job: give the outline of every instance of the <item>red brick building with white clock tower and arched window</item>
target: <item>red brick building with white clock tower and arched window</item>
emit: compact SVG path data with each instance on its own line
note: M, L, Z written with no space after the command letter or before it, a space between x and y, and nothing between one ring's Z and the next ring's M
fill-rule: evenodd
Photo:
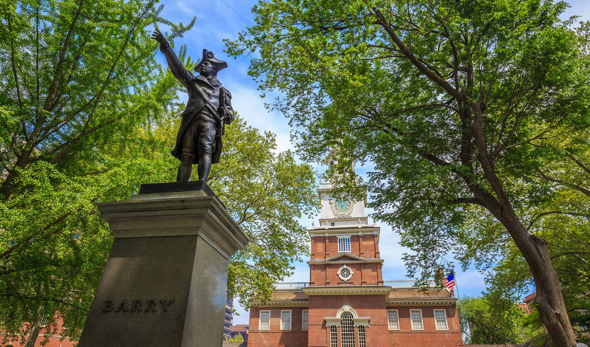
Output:
M270 302L251 302L248 347L463 346L453 292L384 281L366 198L332 197L332 188L320 181L317 189L322 215L309 229L309 282L278 283Z

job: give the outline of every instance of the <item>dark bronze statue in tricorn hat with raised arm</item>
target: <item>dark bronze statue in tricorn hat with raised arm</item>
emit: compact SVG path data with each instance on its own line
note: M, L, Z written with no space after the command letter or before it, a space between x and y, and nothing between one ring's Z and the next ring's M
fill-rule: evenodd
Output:
M181 161L176 182L188 181L192 165L197 163L199 181L207 181L211 164L219 162L224 125L234 120L231 93L221 86L217 73L227 67L225 61L203 50L203 58L195 66L199 76L186 70L162 33L156 29L152 38L159 42L168 67L188 91L188 102L182 113L181 126L172 152Z

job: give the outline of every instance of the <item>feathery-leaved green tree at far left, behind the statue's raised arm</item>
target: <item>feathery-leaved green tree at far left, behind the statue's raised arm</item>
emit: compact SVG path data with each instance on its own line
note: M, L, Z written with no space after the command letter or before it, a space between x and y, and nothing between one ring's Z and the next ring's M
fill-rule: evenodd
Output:
M27 347L44 317L45 342L80 334L112 242L94 202L166 174L139 135L177 88L146 27L181 35L192 23L165 21L154 3L0 1L0 327L29 335Z

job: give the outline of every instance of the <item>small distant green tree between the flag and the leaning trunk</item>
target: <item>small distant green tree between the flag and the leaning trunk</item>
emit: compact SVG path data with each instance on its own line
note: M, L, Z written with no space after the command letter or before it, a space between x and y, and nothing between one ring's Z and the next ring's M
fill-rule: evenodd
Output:
M464 343L519 345L540 332L527 326L525 310L506 298L464 296L457 308Z

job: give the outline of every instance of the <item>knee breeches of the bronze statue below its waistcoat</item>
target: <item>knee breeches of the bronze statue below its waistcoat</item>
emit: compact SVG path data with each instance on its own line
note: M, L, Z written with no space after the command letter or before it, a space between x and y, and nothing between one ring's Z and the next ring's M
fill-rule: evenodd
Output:
M197 160L204 155L211 157L216 132L217 125L215 123L208 122L202 117L192 120L182 136L182 155L195 158L196 154Z

